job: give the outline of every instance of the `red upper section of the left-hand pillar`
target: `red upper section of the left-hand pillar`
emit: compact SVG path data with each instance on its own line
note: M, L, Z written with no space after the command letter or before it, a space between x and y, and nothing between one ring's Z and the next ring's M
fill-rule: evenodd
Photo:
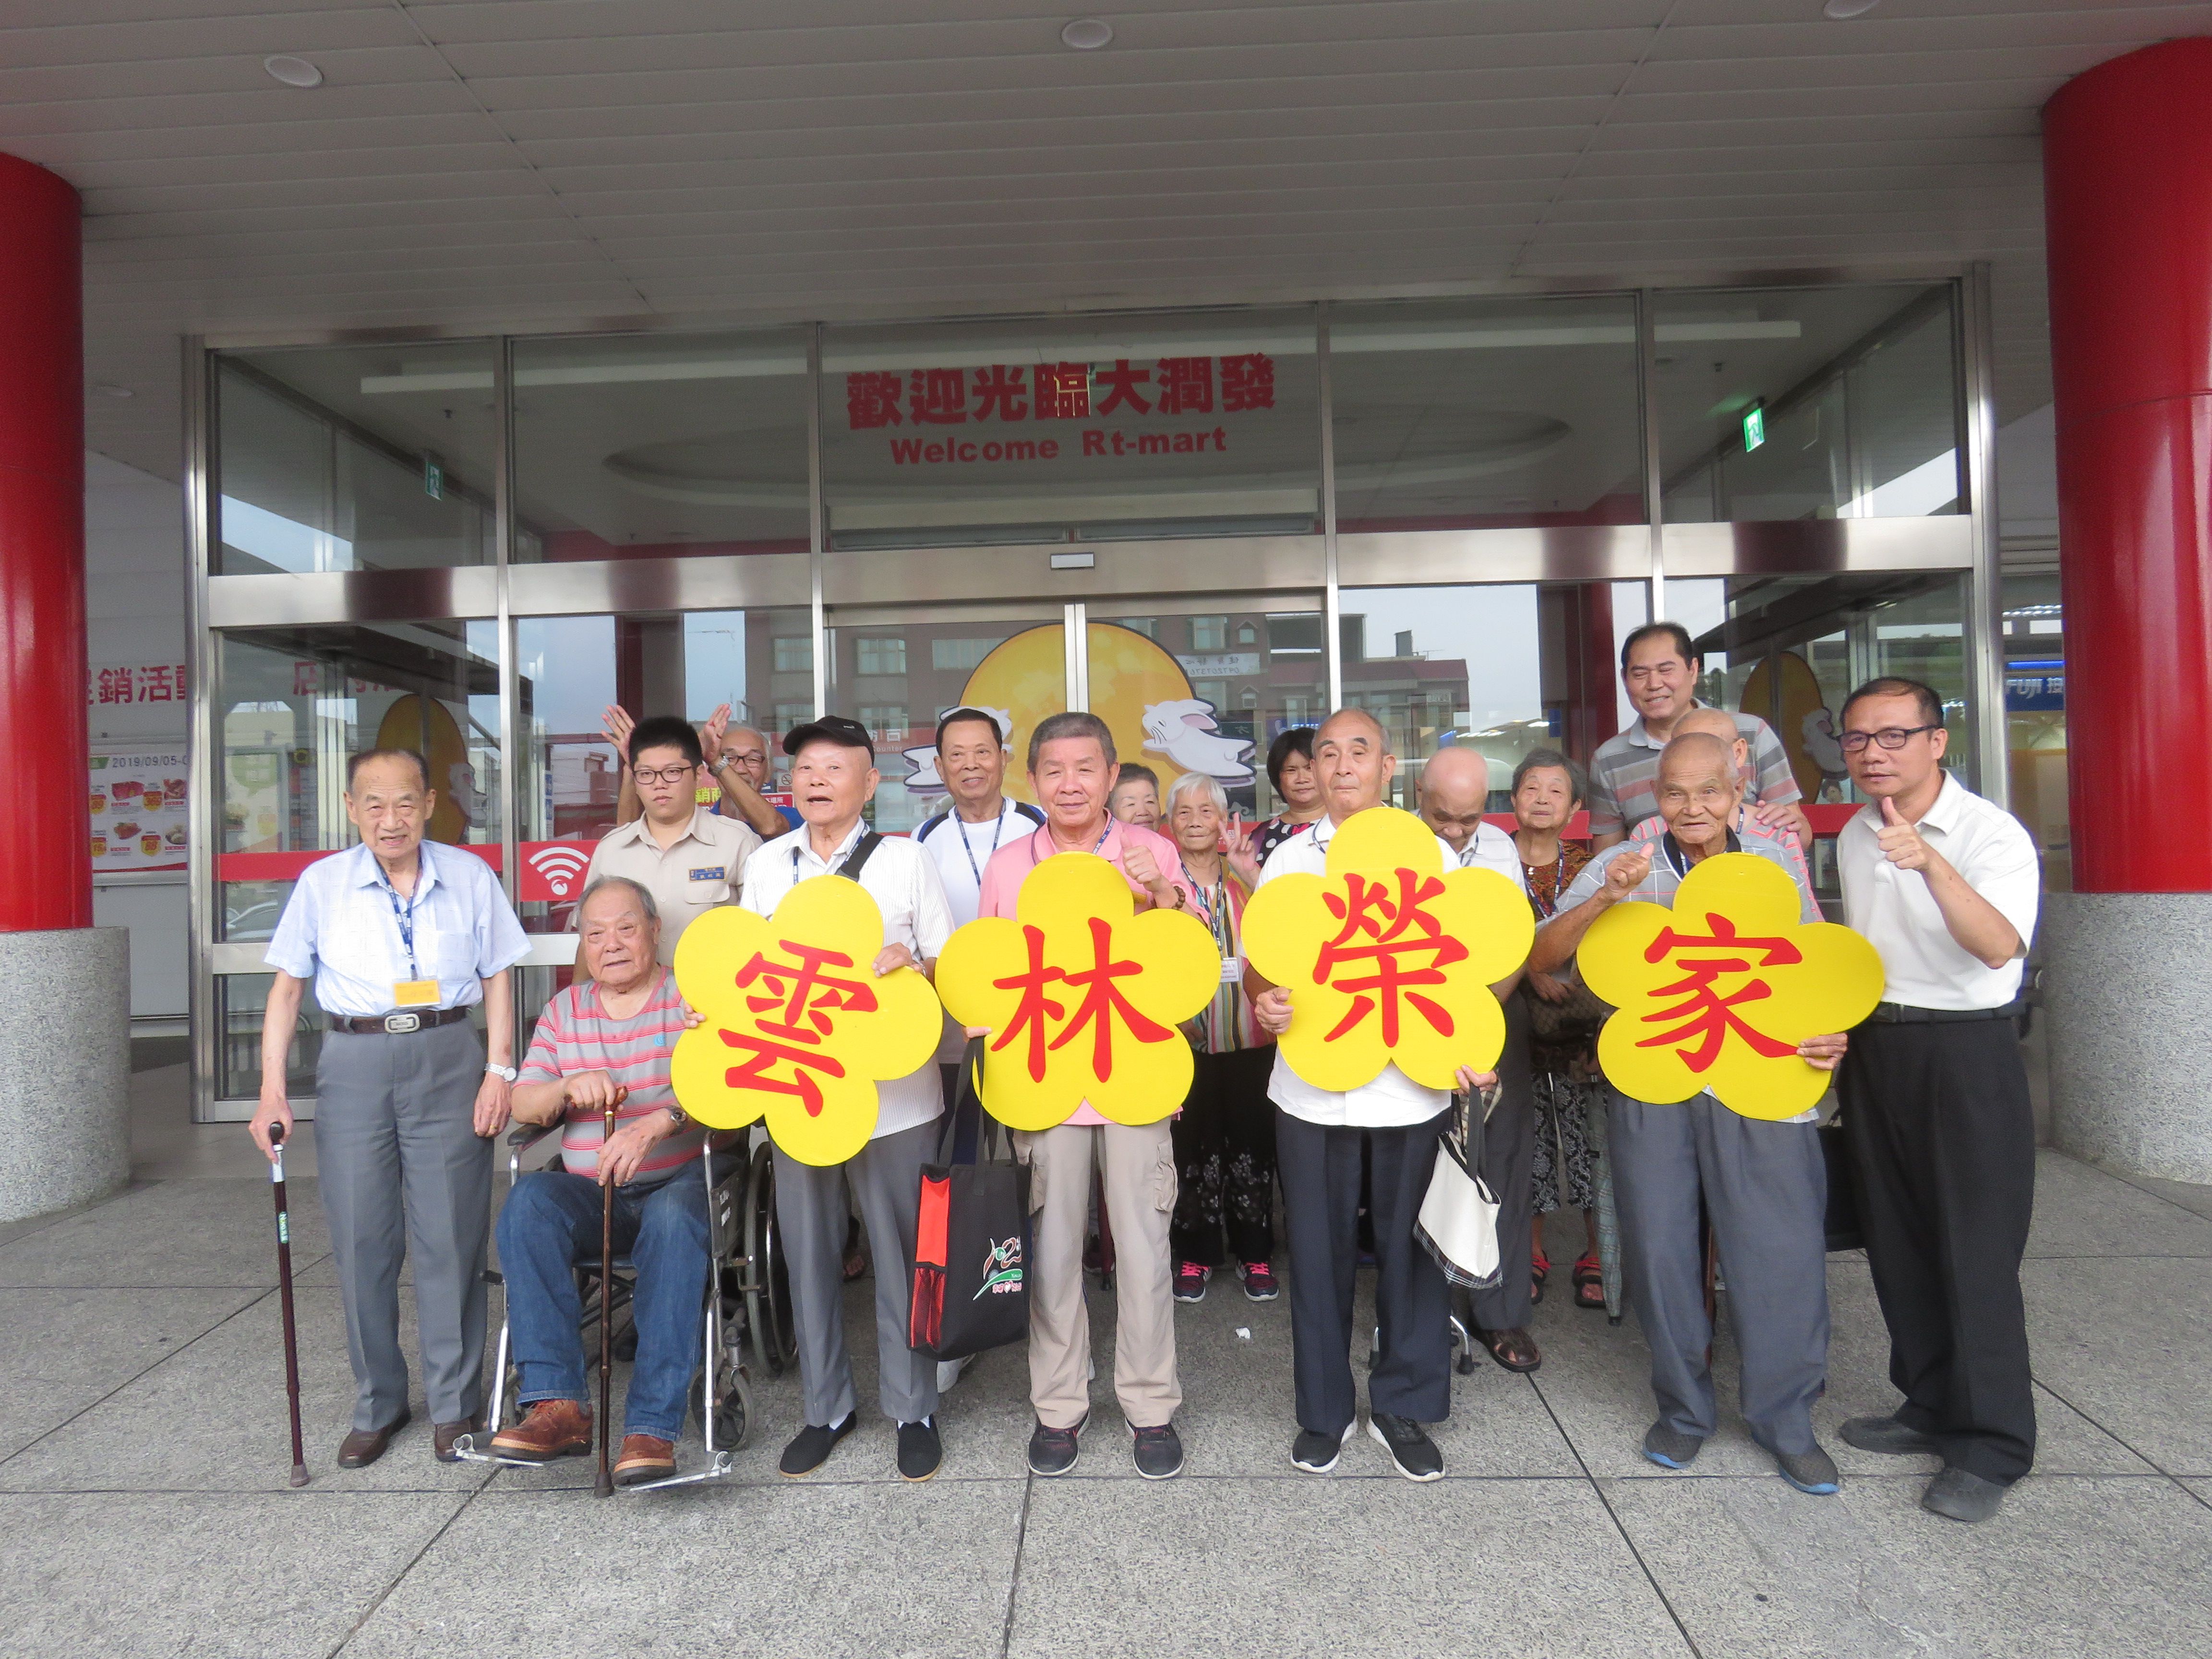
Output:
M93 925L77 192L0 155L0 931Z

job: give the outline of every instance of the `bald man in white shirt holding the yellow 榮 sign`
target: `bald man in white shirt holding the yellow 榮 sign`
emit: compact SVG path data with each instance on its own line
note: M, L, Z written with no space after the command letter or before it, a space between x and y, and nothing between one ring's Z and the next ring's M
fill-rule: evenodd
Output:
M1314 734L1314 772L1325 812L1281 843L1261 867L1259 885L1305 872L1327 874L1329 841L1354 812L1383 805L1398 759L1383 723L1360 708L1340 708ZM1458 849L1438 841L1447 865ZM1513 865L1520 872L1520 860ZM1520 978L1515 969L1515 978ZM1500 987L1500 995L1511 989ZM1261 1029L1281 1037L1292 1020L1292 993L1245 964L1245 995ZM1460 1088L1482 1091L1495 1073L1460 1066ZM1314 1088L1281 1055L1267 1097L1276 1104L1276 1168L1290 1234L1290 1336L1298 1387L1298 1438L1290 1462L1327 1473L1358 1427L1352 1383L1352 1285L1358 1267L1360 1144L1374 1155L1371 1214L1376 1225L1376 1314L1383 1352L1367 1378L1367 1431L1407 1480L1440 1480L1444 1455L1420 1427L1451 1416L1451 1287L1442 1267L1413 1239L1413 1219L1436 1168L1436 1137L1451 1095L1425 1088L1396 1066L1349 1093Z

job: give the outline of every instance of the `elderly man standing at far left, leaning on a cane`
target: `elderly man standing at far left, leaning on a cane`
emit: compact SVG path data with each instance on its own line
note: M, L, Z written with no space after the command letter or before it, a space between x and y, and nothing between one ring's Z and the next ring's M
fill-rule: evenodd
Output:
M513 980L529 940L491 865L422 838L438 805L414 750L345 768L361 845L301 872L270 938L252 1137L292 1133L285 1057L305 982L330 1018L314 1068L316 1155L354 1360L354 1431L341 1469L385 1455L409 1418L400 1261L414 1254L431 1444L476 1431L484 1385L484 1243L491 1137L507 1128ZM484 1037L469 1009L484 1004ZM489 1046L489 1057L487 1057Z

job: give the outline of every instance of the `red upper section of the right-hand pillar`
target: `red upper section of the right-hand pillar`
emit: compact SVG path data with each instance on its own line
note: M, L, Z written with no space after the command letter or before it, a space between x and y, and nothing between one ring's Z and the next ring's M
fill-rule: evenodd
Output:
M2073 883L2212 891L2212 40L2044 106Z

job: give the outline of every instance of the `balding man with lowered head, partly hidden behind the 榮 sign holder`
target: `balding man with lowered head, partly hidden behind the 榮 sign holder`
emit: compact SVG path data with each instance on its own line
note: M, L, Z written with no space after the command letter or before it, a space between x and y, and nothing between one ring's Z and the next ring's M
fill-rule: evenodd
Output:
M1491 763L1475 750L1438 750L1420 768L1420 816L1436 830L1462 865L1495 869L1526 891L1513 836L1482 821L1491 796ZM1482 1347L1509 1371L1533 1371L1544 1352L1528 1334L1535 1283L1522 1263L1531 1259L1535 1232L1535 1075L1528 1068L1528 1004L1502 998L1506 1011L1506 1046L1498 1057L1498 1104L1482 1124L1482 1179L1498 1199L1498 1259L1504 1274L1489 1290L1478 1290L1473 1303Z

